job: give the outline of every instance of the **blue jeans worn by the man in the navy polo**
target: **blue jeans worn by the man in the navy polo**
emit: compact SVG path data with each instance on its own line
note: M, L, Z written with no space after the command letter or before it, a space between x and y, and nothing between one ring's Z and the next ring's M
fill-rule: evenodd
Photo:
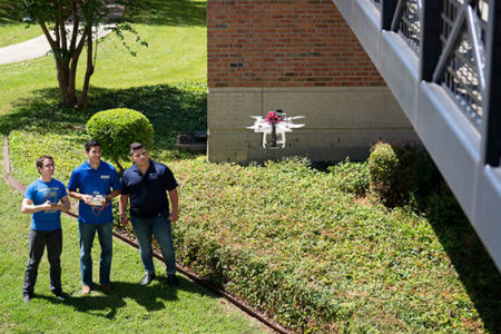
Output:
M139 243L139 255L141 256L143 266L147 274L155 274L153 263L151 234L160 246L164 262L167 266L167 275L176 273L175 252L173 244L173 230L170 228L170 219L165 215L157 215L153 218L130 217L132 220L134 233Z

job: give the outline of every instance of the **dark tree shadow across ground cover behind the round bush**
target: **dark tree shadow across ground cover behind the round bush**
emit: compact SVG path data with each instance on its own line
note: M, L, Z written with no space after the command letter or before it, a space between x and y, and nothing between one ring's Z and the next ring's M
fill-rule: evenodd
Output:
M155 129L155 147L174 147L178 131L205 131L207 92L205 84L143 86L128 89L91 87L82 109L58 106L59 89L41 89L30 98L14 102L13 111L0 116L0 130L13 129L47 132L81 131L97 111L130 108L143 112Z

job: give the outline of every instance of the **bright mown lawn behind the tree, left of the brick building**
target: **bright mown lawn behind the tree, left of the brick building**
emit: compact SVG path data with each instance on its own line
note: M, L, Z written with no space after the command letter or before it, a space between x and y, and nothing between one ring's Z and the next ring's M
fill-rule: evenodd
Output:
M149 6L151 20L146 22L146 18L140 17L143 19L135 24L149 46L139 46L134 36L125 33L137 57L130 56L115 35L108 35L99 43L89 102L92 102L92 95L131 87L206 80L205 1L155 0L149 1ZM0 26L0 36L2 33L9 32ZM77 85L81 85L85 60L81 57ZM0 71L0 115L12 110L23 99L37 97L57 101L59 92L52 56L3 65Z

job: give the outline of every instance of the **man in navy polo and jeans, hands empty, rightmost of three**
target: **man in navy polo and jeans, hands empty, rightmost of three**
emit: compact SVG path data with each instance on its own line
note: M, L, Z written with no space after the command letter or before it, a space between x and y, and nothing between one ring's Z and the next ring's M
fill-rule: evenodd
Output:
M126 169L121 177L119 212L121 223L127 225L125 212L130 198L130 219L146 272L140 284L148 285L155 278L153 234L160 246L167 266L167 283L175 287L178 285L178 281L170 224L176 223L178 218L178 185L167 166L148 158L148 153L141 144L131 144L130 154L135 164ZM170 213L167 193L173 205Z

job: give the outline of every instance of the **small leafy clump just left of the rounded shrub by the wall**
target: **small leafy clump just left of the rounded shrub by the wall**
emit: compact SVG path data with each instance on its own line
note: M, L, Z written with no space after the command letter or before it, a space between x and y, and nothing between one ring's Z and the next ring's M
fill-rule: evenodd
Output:
M327 171L335 175L335 185L343 191L364 196L369 191L367 163L353 163L347 157L344 161L330 166Z

